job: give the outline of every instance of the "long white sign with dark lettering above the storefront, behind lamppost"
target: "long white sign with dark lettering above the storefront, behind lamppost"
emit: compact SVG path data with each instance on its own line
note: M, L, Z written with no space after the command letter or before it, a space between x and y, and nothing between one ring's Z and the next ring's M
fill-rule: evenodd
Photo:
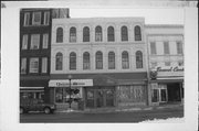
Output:
M85 86L93 86L93 79L72 79L71 87L85 87ZM70 87L69 79L62 80L50 80L49 87Z

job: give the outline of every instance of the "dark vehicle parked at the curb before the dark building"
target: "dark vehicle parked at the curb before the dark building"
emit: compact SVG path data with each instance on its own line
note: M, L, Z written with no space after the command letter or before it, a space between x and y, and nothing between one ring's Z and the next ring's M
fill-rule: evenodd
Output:
M20 113L29 111L43 111L44 113L53 113L56 109L54 103L45 103L41 99L20 99Z

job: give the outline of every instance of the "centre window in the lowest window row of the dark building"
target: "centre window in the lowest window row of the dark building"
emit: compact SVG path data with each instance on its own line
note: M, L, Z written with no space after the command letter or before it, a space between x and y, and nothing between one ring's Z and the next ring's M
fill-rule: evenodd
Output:
M39 58L32 57L30 58L30 68L29 73L39 73Z

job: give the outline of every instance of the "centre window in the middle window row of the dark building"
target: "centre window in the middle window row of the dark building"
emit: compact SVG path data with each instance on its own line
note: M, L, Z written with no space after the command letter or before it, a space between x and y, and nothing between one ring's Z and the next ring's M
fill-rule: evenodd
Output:
M39 50L40 48L40 34L32 34L31 35L31 50Z

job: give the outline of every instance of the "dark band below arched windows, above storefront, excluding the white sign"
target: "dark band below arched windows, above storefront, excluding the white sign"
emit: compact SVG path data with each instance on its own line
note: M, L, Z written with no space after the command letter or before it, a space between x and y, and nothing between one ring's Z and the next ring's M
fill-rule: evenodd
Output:
M67 79L67 74L53 74L51 79ZM147 73L72 74L72 79L93 79L93 86L144 85Z

